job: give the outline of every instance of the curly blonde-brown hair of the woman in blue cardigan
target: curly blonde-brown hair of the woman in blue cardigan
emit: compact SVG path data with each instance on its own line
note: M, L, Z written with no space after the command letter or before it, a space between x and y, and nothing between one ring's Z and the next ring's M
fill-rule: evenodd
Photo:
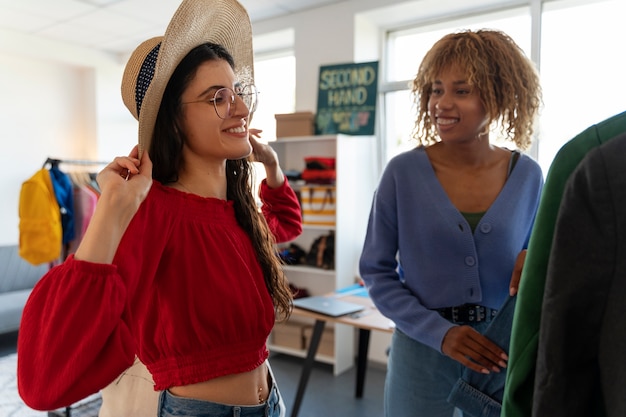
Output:
M440 140L428 114L428 101L435 78L453 66L464 69L467 82L480 91L489 126L499 126L506 139L527 149L542 103L539 75L510 36L486 29L448 34L422 60L411 90L417 107L413 137L420 145Z

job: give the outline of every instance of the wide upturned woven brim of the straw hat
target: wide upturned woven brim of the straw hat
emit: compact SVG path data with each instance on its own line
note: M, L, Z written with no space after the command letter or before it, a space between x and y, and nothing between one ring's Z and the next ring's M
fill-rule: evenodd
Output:
M162 38L154 77L141 105L139 157L150 149L163 92L174 70L193 48L207 42L232 55L239 81L254 82L252 25L246 9L235 0L184 0Z

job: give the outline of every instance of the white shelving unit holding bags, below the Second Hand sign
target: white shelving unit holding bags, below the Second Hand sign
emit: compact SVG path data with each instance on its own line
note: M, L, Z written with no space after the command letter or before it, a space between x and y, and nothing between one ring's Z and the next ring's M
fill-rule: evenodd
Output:
M302 172L305 157L335 157L337 180L335 227L303 226L302 235L294 241L308 251L315 238L335 232L335 269L291 265L285 266L290 282L306 288L311 295L331 293L355 282L358 261L365 239L367 219L374 189L376 172L376 141L373 136L324 135L280 138L269 142L278 154L284 170ZM297 185L292 184L297 190ZM311 325L313 322L310 323ZM304 357L306 350L271 343L270 350ZM337 325L334 328L334 355L317 355L320 362L333 365L335 375L349 369L355 356L354 328Z

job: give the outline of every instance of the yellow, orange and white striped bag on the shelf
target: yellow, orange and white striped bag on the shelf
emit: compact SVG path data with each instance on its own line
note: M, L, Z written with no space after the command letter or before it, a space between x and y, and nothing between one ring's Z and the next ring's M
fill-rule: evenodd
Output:
M307 184L300 187L302 223L309 226L335 226L335 187Z

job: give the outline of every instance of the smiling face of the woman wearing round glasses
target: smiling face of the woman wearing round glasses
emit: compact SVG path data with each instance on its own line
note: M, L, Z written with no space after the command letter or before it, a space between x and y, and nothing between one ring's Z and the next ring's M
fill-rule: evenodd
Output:
M248 140L249 111L243 100L235 95L229 115L221 107L227 104L217 103L224 119L216 112L213 98L223 87L236 92L239 85L228 62L217 59L202 63L183 92L182 128L186 134L183 155L186 160L193 156L223 164L227 159L245 158L252 152Z

